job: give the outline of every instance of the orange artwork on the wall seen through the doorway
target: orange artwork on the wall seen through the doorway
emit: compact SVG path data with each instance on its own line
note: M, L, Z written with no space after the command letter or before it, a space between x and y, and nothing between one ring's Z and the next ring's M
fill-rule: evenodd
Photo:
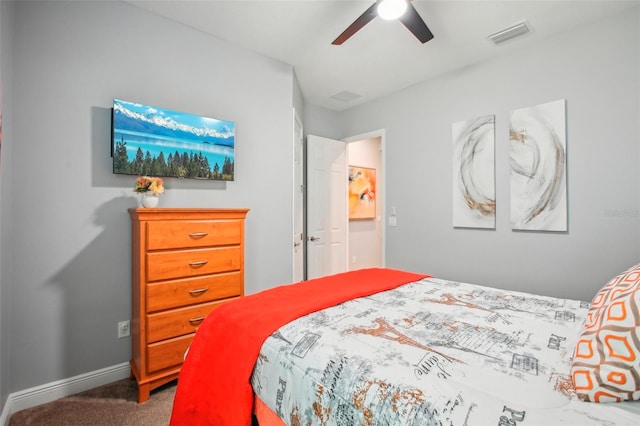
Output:
M349 220L375 217L376 169L349 166Z

